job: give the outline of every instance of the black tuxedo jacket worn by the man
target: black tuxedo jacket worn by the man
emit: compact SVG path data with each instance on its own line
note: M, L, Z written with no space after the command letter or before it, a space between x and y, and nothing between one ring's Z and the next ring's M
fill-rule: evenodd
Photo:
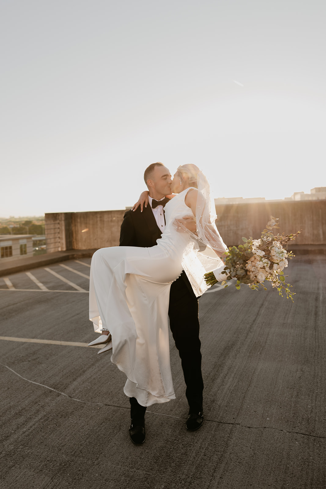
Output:
M148 204L147 207L143 208L143 212L140 212L140 207L137 207L135 211L130 210L125 213L120 229L119 245L151 248L157 244L156 240L161 237L161 234L162 231L155 221L150 204ZM179 288L182 282L195 298L195 293L184 271L181 273L180 277L173 282L171 291Z

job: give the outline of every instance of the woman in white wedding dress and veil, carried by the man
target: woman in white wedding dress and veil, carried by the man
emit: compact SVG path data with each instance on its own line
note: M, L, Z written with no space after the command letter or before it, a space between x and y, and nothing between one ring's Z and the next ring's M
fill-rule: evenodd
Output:
M216 225L206 177L193 164L179 166L165 206L166 226L150 248L114 246L91 261L89 319L102 335L89 346L112 348L111 362L127 376L124 393L142 406L175 399L170 368L169 293L185 270L196 296L208 288L203 275L223 266L227 250ZM177 220L192 212L196 234Z

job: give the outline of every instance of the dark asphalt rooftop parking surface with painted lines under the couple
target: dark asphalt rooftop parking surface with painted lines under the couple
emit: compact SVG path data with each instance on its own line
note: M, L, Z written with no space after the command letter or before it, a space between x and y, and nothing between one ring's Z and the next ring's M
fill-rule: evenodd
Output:
M290 263L294 304L247 287L201 297L204 423L185 428L171 338L177 399L148 408L141 446L124 374L84 346L79 262L0 278L1 489L325 489L325 255Z

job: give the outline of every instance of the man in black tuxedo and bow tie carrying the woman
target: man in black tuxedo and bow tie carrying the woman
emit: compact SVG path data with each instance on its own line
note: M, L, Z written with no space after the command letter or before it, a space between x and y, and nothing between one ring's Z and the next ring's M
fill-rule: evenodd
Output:
M161 237L165 227L164 206L171 194L171 174L162 163L152 163L146 168L144 180L149 190L149 203L141 211L127 211L121 224L120 246L152 247ZM196 223L183 220L189 230L196 232ZM195 228L194 228L195 226ZM169 304L170 328L179 351L186 383L189 415L188 430L196 430L203 422L203 379L201 375L201 353L199 340L198 299L183 271L172 283ZM140 445L145 441L146 407L130 398L130 438Z

